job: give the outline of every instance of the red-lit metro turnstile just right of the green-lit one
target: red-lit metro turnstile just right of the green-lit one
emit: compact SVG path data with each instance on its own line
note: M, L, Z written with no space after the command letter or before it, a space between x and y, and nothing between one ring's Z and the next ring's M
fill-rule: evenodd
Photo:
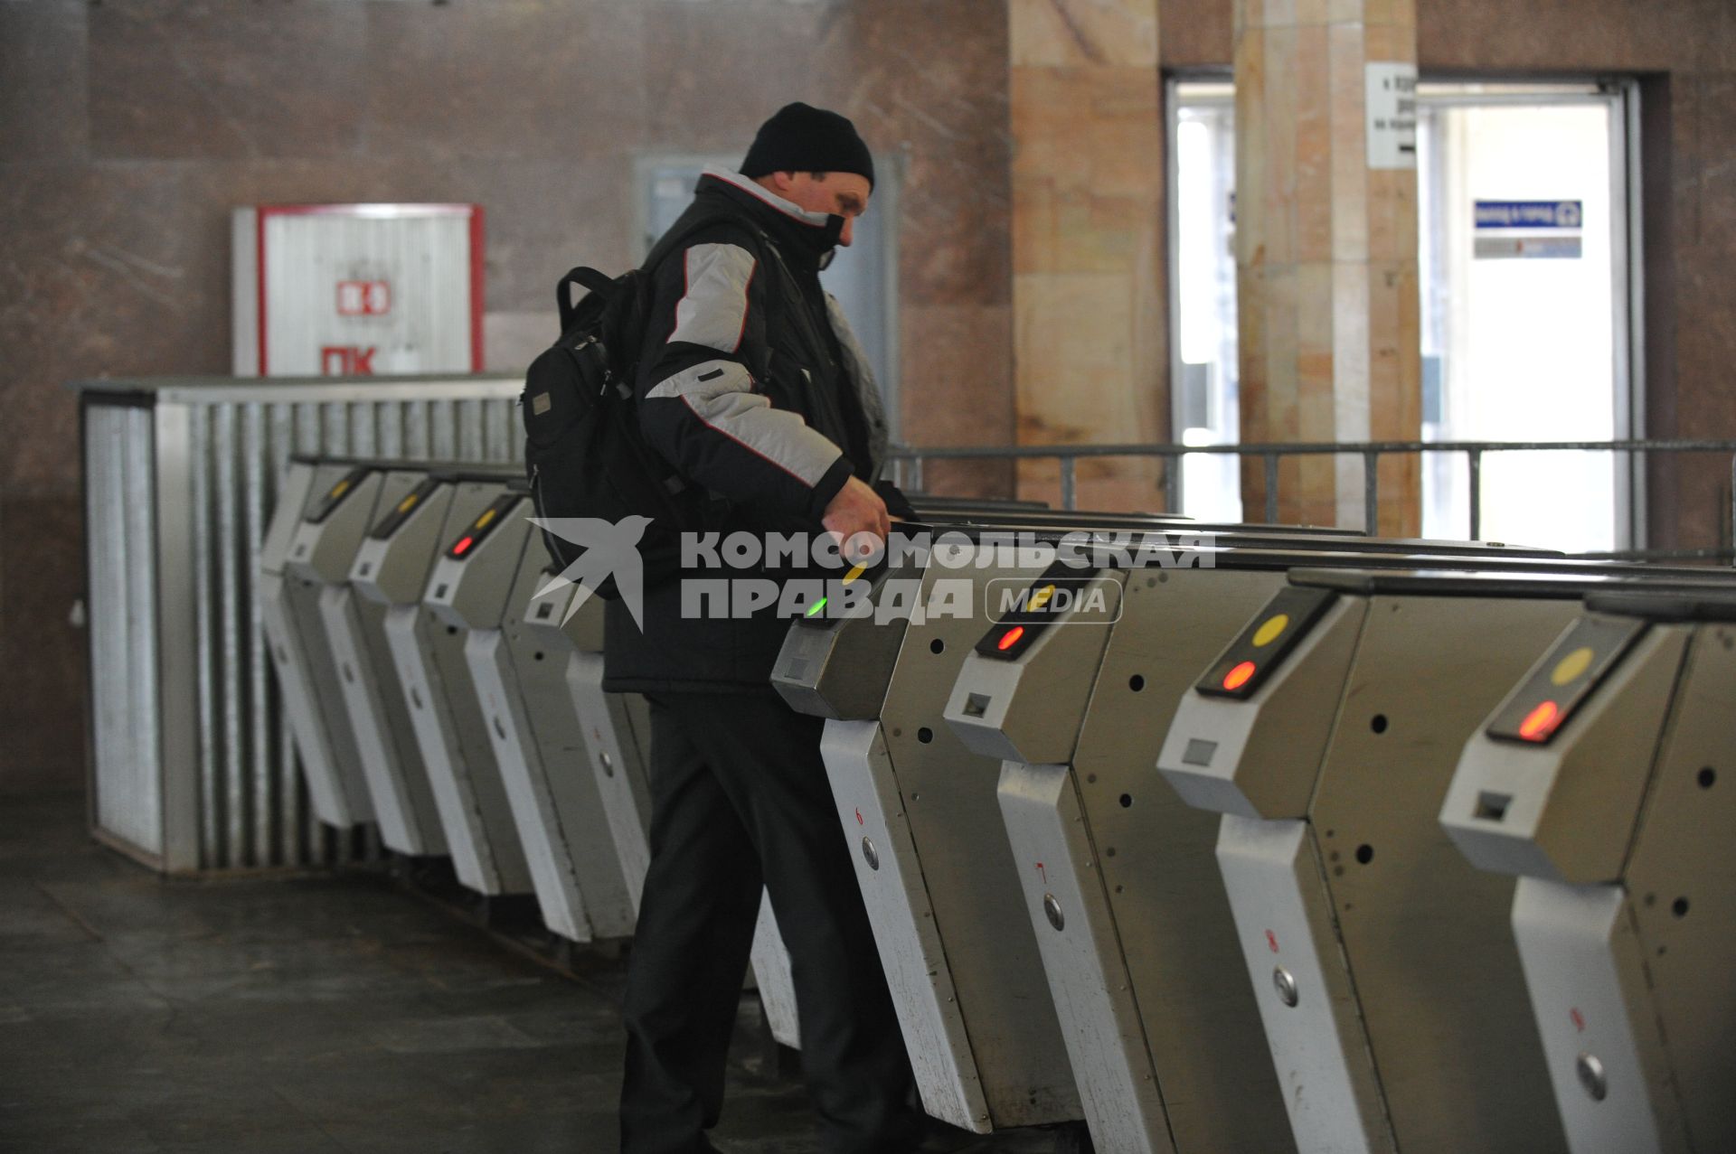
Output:
M1059 602L1047 602L1047 576L1035 580L1029 602L1043 600L1043 611L990 630L990 640L1014 628L1017 637L1005 647L979 644L946 706L965 744L1005 758L1000 809L1102 1149L1290 1145L1212 861L1217 817L1180 803L1151 772L1168 710L1196 666L1299 561L1535 552L1259 531L1224 540L1238 547L1210 557L1212 567L1104 573L1123 590L1113 623L1080 621L1062 607L1069 623L1047 625ZM1057 569L1062 588L1066 573ZM1087 571L1085 580L1097 578Z

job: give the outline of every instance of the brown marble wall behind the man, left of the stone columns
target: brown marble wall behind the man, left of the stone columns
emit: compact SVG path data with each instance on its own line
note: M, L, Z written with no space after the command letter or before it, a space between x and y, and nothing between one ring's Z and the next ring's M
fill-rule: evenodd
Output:
M901 158L910 437L1012 441L1002 0L0 0L0 791L82 781L62 385L227 371L231 207L481 203L516 370L561 272L630 259L635 154L743 151L792 99Z

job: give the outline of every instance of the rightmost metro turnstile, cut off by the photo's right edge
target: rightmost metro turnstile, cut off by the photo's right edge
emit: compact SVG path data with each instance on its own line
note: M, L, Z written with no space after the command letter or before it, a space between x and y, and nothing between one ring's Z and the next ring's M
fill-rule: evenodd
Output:
M1441 824L1512 928L1575 1154L1736 1149L1736 599L1594 595L1465 743Z

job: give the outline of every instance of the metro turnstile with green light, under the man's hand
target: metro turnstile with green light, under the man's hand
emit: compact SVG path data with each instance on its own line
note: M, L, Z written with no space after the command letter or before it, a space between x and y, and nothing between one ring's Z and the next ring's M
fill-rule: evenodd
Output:
M1009 514L1009 521L1019 517ZM1118 522L1080 517L1106 531ZM1165 528L1147 517L1120 519L1120 526L1127 533ZM915 585L920 604L934 604L943 581L962 581L965 600L981 604L991 583L1023 585L1054 552L1050 545L1040 557L1002 559L1007 550L996 550L993 564L979 567L972 533L948 529L934 538L937 564L861 580L873 581L877 599ZM920 621L894 614L882 623L807 620L792 626L773 684L795 710L828 718L826 772L924 1105L936 1118L986 1131L1082 1114L995 802L998 758L972 753L941 724L946 694L981 630L976 613Z

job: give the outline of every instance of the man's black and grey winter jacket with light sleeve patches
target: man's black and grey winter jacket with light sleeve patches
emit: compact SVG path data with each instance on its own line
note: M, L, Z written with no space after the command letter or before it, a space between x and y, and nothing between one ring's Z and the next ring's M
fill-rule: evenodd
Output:
M656 292L639 361L639 423L708 498L710 529L819 533L844 482L878 474L880 394L819 286L842 224L712 167L646 260ZM719 576L755 574L648 573L642 632L613 602L604 685L769 691L786 620L682 618L681 580Z

